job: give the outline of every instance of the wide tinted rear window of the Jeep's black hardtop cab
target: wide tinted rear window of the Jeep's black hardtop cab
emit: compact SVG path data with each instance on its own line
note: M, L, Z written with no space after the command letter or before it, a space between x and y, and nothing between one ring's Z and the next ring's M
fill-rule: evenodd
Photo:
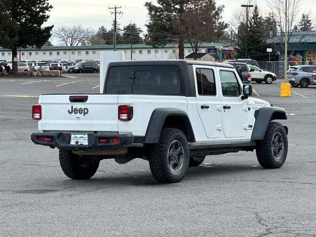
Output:
M111 67L106 79L107 94L179 95L180 71L177 66Z

